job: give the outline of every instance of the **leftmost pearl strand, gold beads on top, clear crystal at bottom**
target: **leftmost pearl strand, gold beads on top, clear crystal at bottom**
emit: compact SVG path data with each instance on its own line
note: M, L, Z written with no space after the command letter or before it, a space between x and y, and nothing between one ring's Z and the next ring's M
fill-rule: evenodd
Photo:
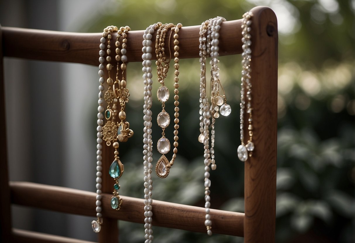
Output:
M106 42L106 38L108 38L108 40L110 41L111 37L111 32L114 30L114 29L117 29L117 27L115 26L108 26L104 29L103 33L102 33L102 38L100 39L100 51L99 51L99 62L100 62L100 65L99 65L99 100L98 100L98 114L97 114L97 152L96 152L96 159L97 159L97 162L96 162L96 216L97 216L97 220L93 220L91 222L91 226L92 226L92 229L95 233L98 233L100 232L101 230L101 225L102 225L102 214L101 214L101 211L102 211L102 207L101 207L101 199L102 199L102 191L101 191L101 182L102 182L102 179L101 179L101 176L102 176L102 141L103 141L103 118L104 118L104 115L103 115L103 112L104 112L104 107L103 107L103 104L104 104L104 94L103 94L103 91L104 91L104 86L103 84L105 83L105 80L104 80L104 62L105 62L105 42ZM108 46L109 46L109 41L108 41ZM108 49L109 50L109 49ZM110 53L110 51L107 51L107 53ZM106 68L108 68L108 65L106 66Z

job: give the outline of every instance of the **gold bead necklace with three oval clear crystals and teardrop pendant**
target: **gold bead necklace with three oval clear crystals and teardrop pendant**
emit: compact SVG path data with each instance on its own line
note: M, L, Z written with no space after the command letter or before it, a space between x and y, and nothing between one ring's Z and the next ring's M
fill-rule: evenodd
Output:
M182 24L179 23L177 26L174 26L174 24L170 23L170 24L163 24L162 26L159 27L159 29L157 30L157 38L155 41L155 54L157 56L157 61L155 62L155 64L157 65L157 75L158 75L158 81L159 83L162 85L158 88L157 91L157 98L160 102L162 102L162 112L160 112L158 114L157 117L157 123L158 125L162 128L163 132L162 132L162 137L158 140L157 143L157 149L159 151L159 153L163 154L162 157L160 157L160 159L158 160L156 166L155 166L155 172L157 173L157 175L160 178L165 178L169 175L170 172L170 168L171 166L174 164L175 158L176 158L176 153L178 152L178 129L179 129L179 29L182 27ZM168 32L168 30L171 29L170 32L170 36L169 36L169 53L170 53L170 57L169 60L166 60L165 57L165 48L164 48L164 40L165 40L165 36L166 33ZM166 78L167 74L168 74L168 70L169 70L169 63L171 60L171 50L170 50L170 38L172 33L175 32L175 34L173 35L174 38L174 68L175 68L175 78L174 78L174 154L173 157L171 158L170 162L169 160L165 157L164 154L168 153L170 151L170 142L169 140L165 137L165 128L169 126L170 124L170 116L169 113L167 113L165 111L165 102L169 99L169 90L168 88L164 85L164 79Z

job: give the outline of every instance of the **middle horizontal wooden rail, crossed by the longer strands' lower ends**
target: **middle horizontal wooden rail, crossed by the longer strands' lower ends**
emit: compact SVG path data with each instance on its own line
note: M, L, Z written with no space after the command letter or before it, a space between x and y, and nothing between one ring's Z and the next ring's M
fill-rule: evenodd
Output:
M71 188L48 186L32 182L10 182L11 203L42 208L62 213L95 216L95 193ZM34 197L33 195L36 195ZM121 196L122 208L110 207L111 194L103 194L103 217L142 224L144 221L143 199ZM204 208L153 200L153 225L206 233L201 224ZM218 234L243 236L243 213L211 209L213 231ZM105 222L104 222L105 223Z

